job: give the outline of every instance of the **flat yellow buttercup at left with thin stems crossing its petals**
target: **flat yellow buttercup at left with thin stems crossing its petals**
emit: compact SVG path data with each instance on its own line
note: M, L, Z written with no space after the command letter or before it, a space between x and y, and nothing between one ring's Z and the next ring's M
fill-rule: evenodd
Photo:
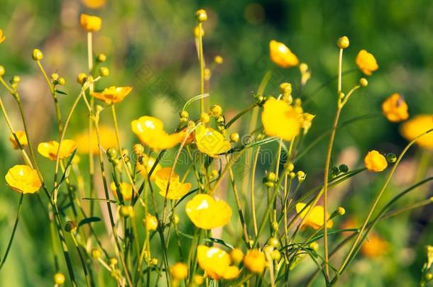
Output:
M104 150L117 146L116 132L114 129L101 125L99 127L99 137L101 140L101 146ZM92 150L92 154L97 154L99 152L97 133L94 129L92 131L91 142L89 142L89 132L87 130L77 135L75 137L75 142L77 142L78 152L82 154L88 154L90 150Z

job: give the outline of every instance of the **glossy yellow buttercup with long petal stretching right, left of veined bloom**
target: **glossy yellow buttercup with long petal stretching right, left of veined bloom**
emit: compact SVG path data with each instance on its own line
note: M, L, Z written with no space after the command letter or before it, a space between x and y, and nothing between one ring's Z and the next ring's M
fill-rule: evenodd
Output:
M185 133L172 133L164 130L164 124L158 118L142 116L131 122L131 128L143 144L153 150L166 150L182 142Z

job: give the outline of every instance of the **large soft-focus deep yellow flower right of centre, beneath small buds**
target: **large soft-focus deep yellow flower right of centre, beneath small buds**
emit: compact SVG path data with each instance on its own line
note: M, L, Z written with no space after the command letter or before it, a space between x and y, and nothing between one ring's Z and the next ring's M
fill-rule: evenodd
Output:
M281 137L283 140L293 140L293 137L300 133L301 116L298 108L271 97L263 105L262 123L265 134L270 137Z

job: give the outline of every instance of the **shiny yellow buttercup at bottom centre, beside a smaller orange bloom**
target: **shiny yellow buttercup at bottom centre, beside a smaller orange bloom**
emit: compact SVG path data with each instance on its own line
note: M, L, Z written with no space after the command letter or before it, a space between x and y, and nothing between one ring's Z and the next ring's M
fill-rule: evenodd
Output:
M231 265L230 255L218 247L197 247L197 261L206 275L214 280L231 280L239 276L239 268Z

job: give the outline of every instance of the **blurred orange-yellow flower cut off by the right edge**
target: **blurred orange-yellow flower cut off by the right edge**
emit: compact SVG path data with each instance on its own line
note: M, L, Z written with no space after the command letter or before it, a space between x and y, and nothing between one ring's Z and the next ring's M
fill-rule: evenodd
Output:
M401 125L400 133L406 140L412 141L432 128L433 115L417 115ZM416 143L424 149L433 150L433 132L423 135Z

